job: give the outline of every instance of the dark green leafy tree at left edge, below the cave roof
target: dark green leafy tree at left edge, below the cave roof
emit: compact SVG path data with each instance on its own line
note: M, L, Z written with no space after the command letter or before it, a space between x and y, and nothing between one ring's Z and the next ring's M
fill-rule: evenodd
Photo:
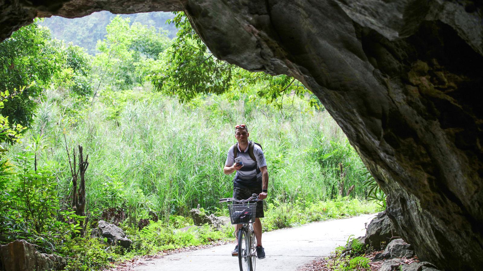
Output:
M0 113L9 116L10 122L27 127L33 121L36 99L63 63L61 54L50 46L49 30L37 22L20 28L0 43L0 91L16 94L0 108Z

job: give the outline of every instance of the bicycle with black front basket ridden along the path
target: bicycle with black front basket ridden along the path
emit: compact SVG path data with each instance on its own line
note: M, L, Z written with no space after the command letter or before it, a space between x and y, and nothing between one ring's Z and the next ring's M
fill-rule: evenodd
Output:
M238 229L238 262L240 264L240 271L255 271L256 238L253 223L255 222L257 201L261 201L258 199L257 194L252 194L246 200L226 198L220 199L219 201L219 203L238 203L228 204L228 211L230 213L231 224L241 224L240 229Z

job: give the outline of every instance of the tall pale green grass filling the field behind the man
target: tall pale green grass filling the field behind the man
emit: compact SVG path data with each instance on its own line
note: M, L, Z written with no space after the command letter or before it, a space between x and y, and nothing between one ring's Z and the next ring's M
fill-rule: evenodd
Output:
M292 100L289 101L290 106ZM269 202L317 201L338 193L339 163L353 197L364 196L365 169L337 124L324 110L307 108L297 97L279 111L251 96L200 96L180 104L146 89L112 93L84 113L71 113L77 101L48 91L38 123L24 138L41 134L48 149L40 163L57 169L59 195L67 203L71 178L67 145L89 154L87 210L100 215L123 208L131 221L149 210L169 217L186 215L200 204L213 211L229 197L233 175L223 174L234 125L246 123L250 139L263 146L270 174ZM288 105L287 105L288 107ZM308 111L308 112L307 112ZM166 218L168 219L168 218Z

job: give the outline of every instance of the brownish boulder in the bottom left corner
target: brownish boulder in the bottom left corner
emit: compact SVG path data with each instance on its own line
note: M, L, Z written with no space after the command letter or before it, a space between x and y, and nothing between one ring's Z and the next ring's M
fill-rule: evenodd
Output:
M67 265L66 258L40 253L25 240L0 245L0 260L5 271L63 270Z

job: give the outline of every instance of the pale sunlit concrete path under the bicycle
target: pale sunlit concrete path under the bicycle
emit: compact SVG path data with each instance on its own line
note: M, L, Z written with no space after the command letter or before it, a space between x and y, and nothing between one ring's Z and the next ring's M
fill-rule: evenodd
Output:
M365 234L364 223L375 215L313 222L297 228L281 229L263 234L266 258L256 260L256 271L295 271L316 257L328 256L347 238ZM262 220L263 223L263 220ZM133 271L237 271L238 257L231 257L235 244L182 252L156 259L140 260Z

